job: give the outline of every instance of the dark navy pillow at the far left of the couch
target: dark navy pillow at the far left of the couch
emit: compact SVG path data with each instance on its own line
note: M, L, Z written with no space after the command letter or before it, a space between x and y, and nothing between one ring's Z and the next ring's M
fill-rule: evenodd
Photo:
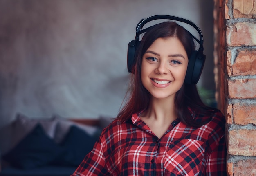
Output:
M20 169L32 169L50 163L61 152L63 149L38 124L3 158Z

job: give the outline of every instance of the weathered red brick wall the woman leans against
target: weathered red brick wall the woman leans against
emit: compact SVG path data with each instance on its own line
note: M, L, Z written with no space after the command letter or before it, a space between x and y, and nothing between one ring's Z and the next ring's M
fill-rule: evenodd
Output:
M256 0L214 0L216 99L227 125L227 173L256 176Z

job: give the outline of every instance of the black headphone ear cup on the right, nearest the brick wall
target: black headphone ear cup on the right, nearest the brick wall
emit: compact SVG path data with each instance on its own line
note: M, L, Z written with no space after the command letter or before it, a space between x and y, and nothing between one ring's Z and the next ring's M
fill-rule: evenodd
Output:
M189 58L188 68L186 70L185 83L197 84L201 76L205 62L205 55L199 54L198 51L193 51Z

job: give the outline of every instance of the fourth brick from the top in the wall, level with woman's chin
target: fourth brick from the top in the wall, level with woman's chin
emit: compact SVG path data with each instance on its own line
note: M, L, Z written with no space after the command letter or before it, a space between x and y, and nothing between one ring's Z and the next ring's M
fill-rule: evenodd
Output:
M256 98L256 79L228 80L229 98L251 99Z

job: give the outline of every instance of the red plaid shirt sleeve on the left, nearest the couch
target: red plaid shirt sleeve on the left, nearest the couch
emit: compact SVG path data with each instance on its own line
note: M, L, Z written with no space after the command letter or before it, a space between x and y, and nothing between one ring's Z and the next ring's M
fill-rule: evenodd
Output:
M103 176L107 175L105 157L101 138L95 143L93 150L85 156L79 167L71 176Z

